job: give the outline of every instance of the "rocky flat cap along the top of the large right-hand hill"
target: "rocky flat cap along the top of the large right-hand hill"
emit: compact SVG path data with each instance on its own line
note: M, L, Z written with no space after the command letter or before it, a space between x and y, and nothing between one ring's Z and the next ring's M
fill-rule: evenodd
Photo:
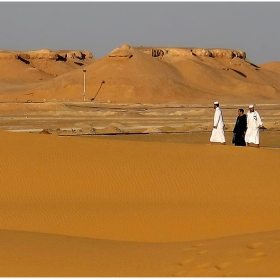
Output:
M199 57L213 57L213 58L229 58L238 57L246 59L246 53L241 50L229 49L201 49L201 48L170 48L170 47L134 47L135 49L149 54L152 57L186 57L186 56L199 56Z

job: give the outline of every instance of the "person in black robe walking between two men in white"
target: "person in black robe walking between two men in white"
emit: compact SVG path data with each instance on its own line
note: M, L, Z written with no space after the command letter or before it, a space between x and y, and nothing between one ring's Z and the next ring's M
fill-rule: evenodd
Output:
M233 139L232 143L235 146L246 146L245 143L245 133L247 129L247 116L244 114L244 110L242 108L238 109L238 117L236 119L236 123L233 129Z

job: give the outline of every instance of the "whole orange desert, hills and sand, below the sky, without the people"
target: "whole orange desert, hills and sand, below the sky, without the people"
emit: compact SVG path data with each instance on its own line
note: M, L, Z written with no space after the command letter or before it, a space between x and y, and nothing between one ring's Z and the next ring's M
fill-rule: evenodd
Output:
M0 276L279 277L279 122L280 62L242 50L0 51Z

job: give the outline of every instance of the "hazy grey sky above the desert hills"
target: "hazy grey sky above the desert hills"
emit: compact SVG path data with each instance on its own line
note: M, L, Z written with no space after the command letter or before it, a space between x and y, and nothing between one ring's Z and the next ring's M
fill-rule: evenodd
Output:
M243 50L280 61L280 2L0 2L0 49L132 46Z

